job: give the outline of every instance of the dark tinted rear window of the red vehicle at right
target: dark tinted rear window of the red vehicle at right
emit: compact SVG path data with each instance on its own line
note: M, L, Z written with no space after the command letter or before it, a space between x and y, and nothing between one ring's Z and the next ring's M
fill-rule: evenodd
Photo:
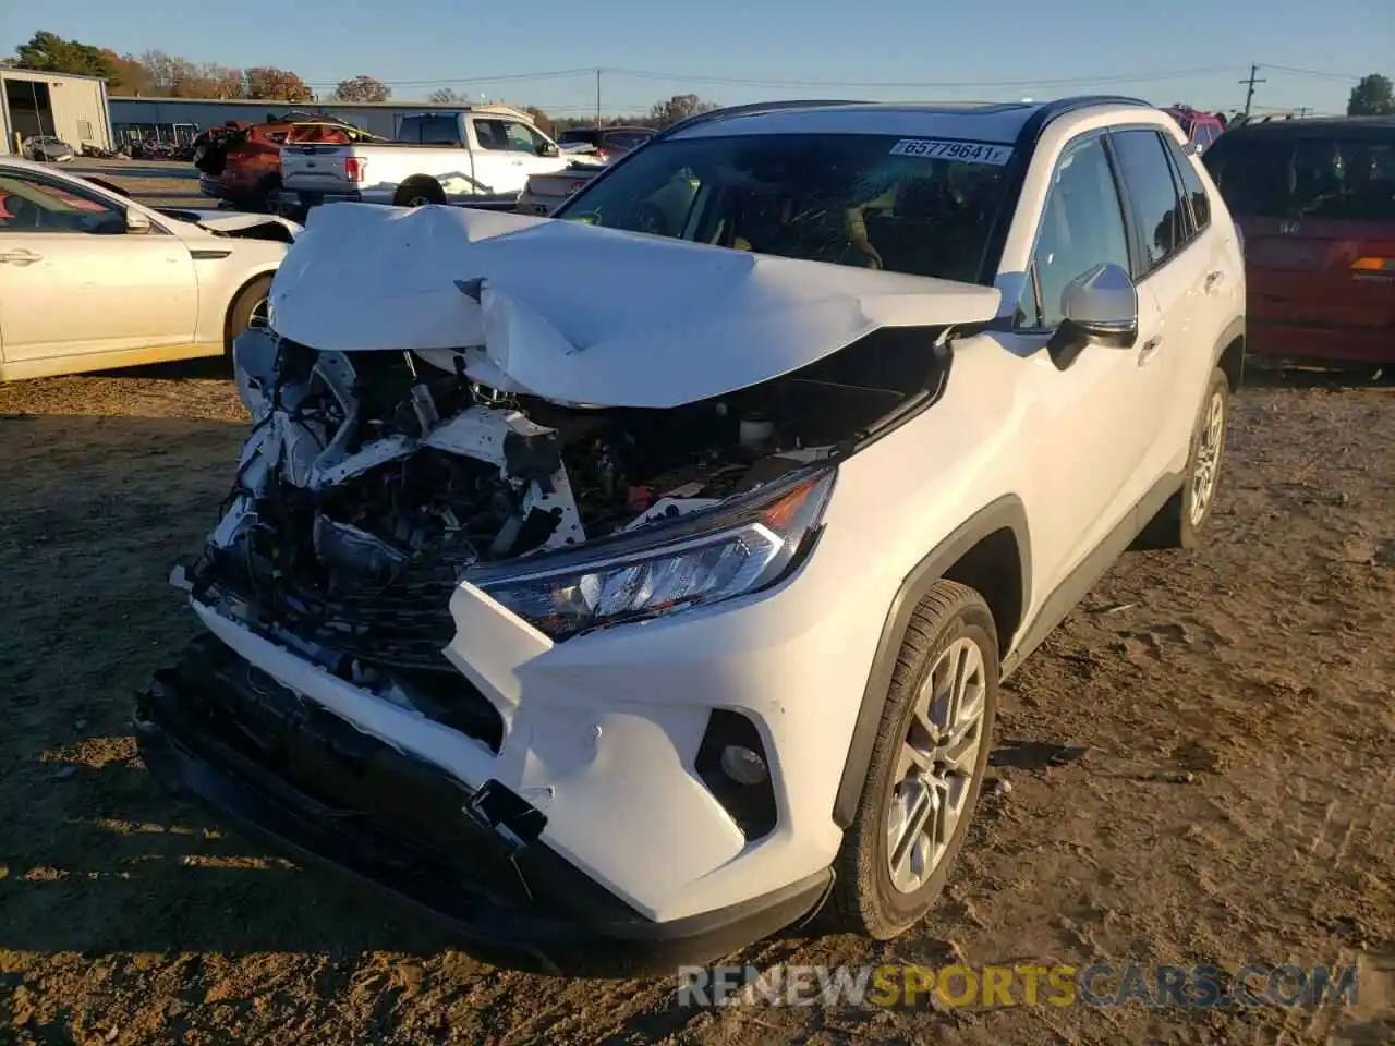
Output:
M1228 134L1202 162L1237 218L1395 220L1395 132Z

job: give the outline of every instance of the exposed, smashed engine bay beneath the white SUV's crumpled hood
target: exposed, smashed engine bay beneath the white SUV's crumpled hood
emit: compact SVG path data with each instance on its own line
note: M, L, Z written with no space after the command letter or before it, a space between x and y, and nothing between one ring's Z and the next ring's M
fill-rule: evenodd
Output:
M785 377L647 410L499 393L451 353L317 351L254 329L236 365L255 428L184 582L345 678L439 669L449 597L473 568L700 512L851 452L937 396L940 333L880 329Z

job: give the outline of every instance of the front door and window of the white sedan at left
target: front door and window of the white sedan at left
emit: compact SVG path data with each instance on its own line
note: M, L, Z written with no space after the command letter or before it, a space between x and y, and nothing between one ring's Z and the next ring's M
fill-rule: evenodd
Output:
M190 344L194 262L159 227L126 232L114 201L0 167L0 333L7 363Z

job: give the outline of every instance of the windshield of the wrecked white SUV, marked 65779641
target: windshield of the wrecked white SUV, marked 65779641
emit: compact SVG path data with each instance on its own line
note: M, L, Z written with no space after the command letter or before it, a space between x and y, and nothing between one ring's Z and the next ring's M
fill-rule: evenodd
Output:
M646 145L558 218L784 258L976 282L1007 145L868 134Z

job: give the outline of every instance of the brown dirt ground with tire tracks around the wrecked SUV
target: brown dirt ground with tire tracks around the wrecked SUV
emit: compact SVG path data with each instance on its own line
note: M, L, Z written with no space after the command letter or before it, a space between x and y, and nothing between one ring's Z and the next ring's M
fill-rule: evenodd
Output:
M1395 391L1242 393L1209 545L1130 554L1009 686L925 926L735 960L1352 962L1355 1007L698 1011L487 967L152 788L130 700L247 431L219 368L0 388L0 1043L1395 1040Z

